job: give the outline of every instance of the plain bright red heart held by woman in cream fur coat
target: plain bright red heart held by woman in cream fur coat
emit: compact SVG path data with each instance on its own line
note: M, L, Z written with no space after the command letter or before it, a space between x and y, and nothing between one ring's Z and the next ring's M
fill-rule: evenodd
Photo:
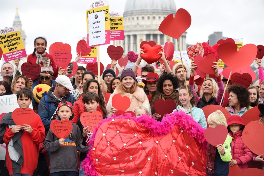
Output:
M130 99L126 96L116 94L112 97L112 107L117 110L126 111L130 106Z

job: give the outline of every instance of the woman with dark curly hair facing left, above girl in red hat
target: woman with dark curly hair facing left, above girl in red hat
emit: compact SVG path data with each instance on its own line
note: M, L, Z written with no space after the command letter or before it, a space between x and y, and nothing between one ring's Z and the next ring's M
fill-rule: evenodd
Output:
M242 116L252 108L249 106L249 92L241 85L233 84L229 87L228 101L229 106L226 109L231 115Z

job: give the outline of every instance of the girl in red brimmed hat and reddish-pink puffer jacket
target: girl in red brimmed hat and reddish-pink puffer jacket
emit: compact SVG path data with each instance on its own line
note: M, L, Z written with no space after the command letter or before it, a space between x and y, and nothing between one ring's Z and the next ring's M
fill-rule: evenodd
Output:
M252 160L253 153L246 147L242 141L242 131L245 128L243 119L239 115L231 115L227 119L227 129L232 139L230 166L237 164L242 172L246 171L249 166L247 162Z

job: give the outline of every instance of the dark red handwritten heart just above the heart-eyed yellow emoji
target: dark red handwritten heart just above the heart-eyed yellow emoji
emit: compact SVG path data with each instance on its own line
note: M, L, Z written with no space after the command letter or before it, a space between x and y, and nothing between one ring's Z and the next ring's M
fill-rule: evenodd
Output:
M31 78L31 80L35 80L39 77L39 74L41 73L41 67L38 64L30 64L28 62L24 62L21 65L21 71L22 74L28 78Z

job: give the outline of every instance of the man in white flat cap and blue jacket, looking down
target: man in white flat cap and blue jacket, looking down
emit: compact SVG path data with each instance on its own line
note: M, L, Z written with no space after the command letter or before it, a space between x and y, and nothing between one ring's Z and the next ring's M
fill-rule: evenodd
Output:
M60 75L55 81L56 85L48 91L47 95L41 98L37 109L37 114L45 127L46 135L59 103L61 101L69 101L72 105L74 103L73 96L70 94L70 90L73 90L70 79L65 75Z

